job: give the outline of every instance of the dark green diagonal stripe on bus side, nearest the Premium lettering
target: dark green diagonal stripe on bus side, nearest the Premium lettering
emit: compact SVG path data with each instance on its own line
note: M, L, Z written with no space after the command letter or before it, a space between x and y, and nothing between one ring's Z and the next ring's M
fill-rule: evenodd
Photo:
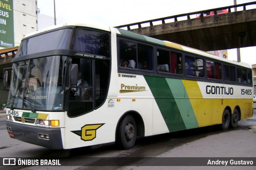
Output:
M174 96L165 78L144 76L169 131L186 129ZM178 90L178 89L177 89Z

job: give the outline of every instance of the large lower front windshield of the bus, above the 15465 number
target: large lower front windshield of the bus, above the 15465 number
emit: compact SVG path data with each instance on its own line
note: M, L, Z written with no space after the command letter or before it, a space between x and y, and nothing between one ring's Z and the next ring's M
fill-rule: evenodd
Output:
M50 56L13 64L8 107L62 110L65 56Z

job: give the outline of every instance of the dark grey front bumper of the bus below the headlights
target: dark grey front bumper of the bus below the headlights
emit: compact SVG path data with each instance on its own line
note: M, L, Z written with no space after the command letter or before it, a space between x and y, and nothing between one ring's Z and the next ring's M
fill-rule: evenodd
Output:
M10 137L51 149L63 149L60 128L44 128L6 122Z

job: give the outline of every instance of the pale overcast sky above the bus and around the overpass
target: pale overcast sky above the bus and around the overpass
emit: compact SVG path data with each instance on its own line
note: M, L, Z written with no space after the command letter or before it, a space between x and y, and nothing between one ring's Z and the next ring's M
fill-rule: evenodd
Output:
M57 24L77 21L111 27L231 5L234 0L55 0ZM40 14L54 17L54 0L38 0L38 8ZM241 48L240 56L242 62L256 64L256 47ZM228 59L237 60L236 49L228 49Z

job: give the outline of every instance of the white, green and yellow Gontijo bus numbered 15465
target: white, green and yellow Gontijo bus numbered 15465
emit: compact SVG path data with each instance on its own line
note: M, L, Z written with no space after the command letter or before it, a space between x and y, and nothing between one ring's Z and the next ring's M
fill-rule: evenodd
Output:
M10 137L52 149L130 149L138 136L252 117L249 64L87 23L24 37L4 80Z

